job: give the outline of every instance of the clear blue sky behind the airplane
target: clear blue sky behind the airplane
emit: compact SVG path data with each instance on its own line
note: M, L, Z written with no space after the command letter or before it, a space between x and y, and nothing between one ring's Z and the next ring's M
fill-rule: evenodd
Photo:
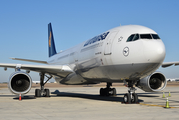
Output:
M142 25L156 31L166 48L164 62L179 61L178 0L0 0L0 63L34 64L10 57L48 59L48 23L57 51L73 47L120 25ZM159 68L179 78L179 66ZM0 68L0 82L14 69ZM38 73L30 73L34 81Z

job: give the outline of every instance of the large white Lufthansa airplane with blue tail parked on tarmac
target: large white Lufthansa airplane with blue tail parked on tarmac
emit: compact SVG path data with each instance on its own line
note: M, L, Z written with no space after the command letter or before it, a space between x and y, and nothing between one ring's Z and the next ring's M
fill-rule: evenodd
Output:
M115 96L112 83L124 83L128 93L124 103L138 103L136 87L145 92L162 91L167 84L165 76L156 72L163 64L165 46L158 34L145 26L125 25L110 29L83 43L56 52L52 25L48 24L49 59L47 61L12 58L42 65L0 63L0 67L15 68L8 87L14 94L27 94L32 85L30 71L40 75L40 89L36 97L49 97L45 84L53 77L57 83L83 85L106 83L101 96ZM21 70L26 70L21 71ZM47 77L48 80L44 81Z

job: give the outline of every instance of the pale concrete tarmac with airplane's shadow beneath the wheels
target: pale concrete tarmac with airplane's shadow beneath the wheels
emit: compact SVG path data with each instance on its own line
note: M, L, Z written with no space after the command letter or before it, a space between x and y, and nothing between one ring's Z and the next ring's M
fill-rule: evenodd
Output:
M57 84L58 85L58 84ZM167 85L163 92L148 93L137 88L138 104L124 104L127 88L114 85L117 96L99 96L102 85L61 86L47 85L51 97L35 98L38 85L22 96L0 86L0 120L178 120L179 83ZM171 97L169 97L169 92ZM170 108L165 108L166 99Z

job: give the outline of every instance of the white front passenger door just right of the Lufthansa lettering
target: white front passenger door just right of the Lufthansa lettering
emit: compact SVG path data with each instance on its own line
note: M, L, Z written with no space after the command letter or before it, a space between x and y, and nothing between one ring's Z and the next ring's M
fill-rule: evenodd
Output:
M113 43L113 40L114 40L116 34L117 34L117 31L113 31L112 33L110 33L110 36L106 41L104 55L111 55L112 54L111 47L112 47L112 43Z

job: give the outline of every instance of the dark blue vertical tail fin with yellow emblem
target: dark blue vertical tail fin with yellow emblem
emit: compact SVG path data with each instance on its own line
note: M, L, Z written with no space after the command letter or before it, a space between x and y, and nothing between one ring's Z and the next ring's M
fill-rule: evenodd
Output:
M49 57L57 54L54 38L53 38L53 32L52 32L52 26L51 23L48 24L48 49L49 49Z

